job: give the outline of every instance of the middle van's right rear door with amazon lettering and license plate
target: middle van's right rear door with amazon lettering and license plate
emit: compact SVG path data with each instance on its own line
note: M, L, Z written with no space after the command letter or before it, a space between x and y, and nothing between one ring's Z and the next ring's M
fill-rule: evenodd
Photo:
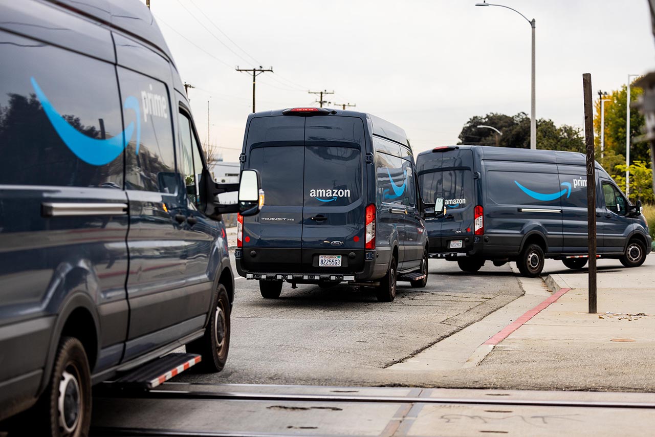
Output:
M306 272L354 273L364 267L364 138L364 123L358 117L306 119L303 194L303 269Z

